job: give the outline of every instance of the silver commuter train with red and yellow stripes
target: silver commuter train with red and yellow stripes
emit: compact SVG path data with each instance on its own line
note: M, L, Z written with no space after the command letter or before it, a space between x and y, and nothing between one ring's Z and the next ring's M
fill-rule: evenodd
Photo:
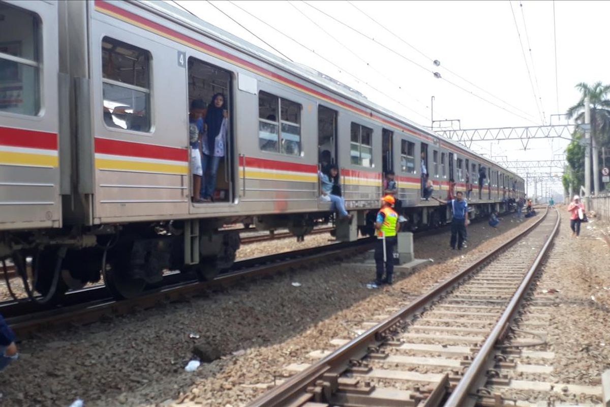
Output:
M198 203L188 109L215 93L226 154L213 202ZM370 228L390 170L407 228L447 222L422 198L422 160L436 193L450 179L474 190L471 217L524 192L486 157L166 2L0 1L0 259L32 300L102 278L131 298L167 270L213 278L235 261L232 223L306 235L334 219L319 199L322 151L354 215L335 221L339 240Z

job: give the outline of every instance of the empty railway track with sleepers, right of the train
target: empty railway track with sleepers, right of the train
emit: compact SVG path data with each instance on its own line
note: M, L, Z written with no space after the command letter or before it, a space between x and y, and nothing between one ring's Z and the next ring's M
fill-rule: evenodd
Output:
M558 230L551 210L393 315L353 326L249 406L595 405L601 387L553 383L545 344L551 304L531 297ZM382 322L378 322L381 320ZM278 382L276 382L278 383Z

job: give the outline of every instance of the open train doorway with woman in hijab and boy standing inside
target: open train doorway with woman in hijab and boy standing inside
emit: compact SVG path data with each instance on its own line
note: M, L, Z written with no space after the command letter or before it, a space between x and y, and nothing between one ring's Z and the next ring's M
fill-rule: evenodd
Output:
M193 204L196 205L232 202L234 198L231 159L234 156L231 125L234 117L231 114L233 110L231 89L229 71L194 57L188 58L189 133L193 133L189 134L191 160L197 162L199 158L201 164L200 168L191 165L193 176L190 185ZM218 95L223 99L221 106L217 104ZM200 132L198 140L196 140L196 131L190 131L193 128L191 124L196 124ZM212 135L210 132L215 134ZM199 149L199 154L193 151L195 148ZM200 183L199 187L196 187L196 182ZM196 193L199 193L199 196L195 196Z

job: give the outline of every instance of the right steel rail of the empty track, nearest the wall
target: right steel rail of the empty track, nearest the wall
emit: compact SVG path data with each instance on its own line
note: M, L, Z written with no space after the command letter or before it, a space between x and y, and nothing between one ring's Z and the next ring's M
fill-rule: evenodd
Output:
M458 385L451 392L447 403L445 403L446 407L462 407L467 405L465 403L466 398L470 394L472 394L471 392L473 391L473 388L478 388L475 386L481 380L481 371L484 369L484 367L487 366L489 359L493 355L493 348L495 344L508 331L508 326L514 318L515 312L517 312L517 310L519 309L519 306L522 303L526 292L528 292L529 286L532 282L532 279L534 278L534 275L536 275L542 258L544 258L545 254L547 254L548 248L550 247L551 242L553 242L553 238L557 234L561 217L559 216L559 212L557 211L557 209L555 209L555 212L557 213L557 221L555 222L553 231L549 234L547 241L544 243L544 246L542 247L542 249L540 249L540 252L536 257L536 260L529 268L528 272L525 275L525 278L523 278L519 289L517 289L515 294L512 296L511 301L504 310L500 319L498 320L496 325L493 326L493 330L491 331L489 336L487 336L487 339L485 340L483 345L481 345L481 349L478 351L475 359L470 364L470 367L468 367L466 372L464 372L464 375L462 376ZM486 380L486 378L484 379ZM472 404L474 404L474 401L471 401L473 402Z

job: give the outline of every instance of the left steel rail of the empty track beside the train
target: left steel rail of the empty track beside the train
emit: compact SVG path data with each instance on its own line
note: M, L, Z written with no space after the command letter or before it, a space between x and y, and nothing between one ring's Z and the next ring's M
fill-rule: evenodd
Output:
M547 214L548 207L544 215L525 229L525 231L521 232L515 237L512 237L512 239L509 239L508 242L501 243L497 247L493 248L489 254L486 254L482 258L473 261L470 265L465 266L462 268L462 270L445 280L443 283L440 283L438 286L426 292L426 294L416 298L405 308L397 311L394 315L389 317L389 319L369 328L360 336L350 340L350 342L332 352L330 355L320 359L320 361L315 362L306 369L301 370L301 372L296 373L288 380L276 387L273 387L273 389L270 391L265 392L260 397L248 403L247 406L275 407L301 405L301 401L306 401L303 395L306 395L307 387L314 385L317 380L320 380L320 378L326 374L333 375L335 378L338 377L338 372L343 372L351 359L357 358L358 356L364 356L369 346L378 345L381 343L386 331L391 330L394 326L397 326L402 320L406 319L410 315L420 312L420 310L422 310L425 306L428 306L432 301L436 300L448 290L452 289L453 286L462 281L465 276L475 272L487 261L497 256L498 251L506 250L507 248L511 247L513 243L517 242L517 240L519 240L521 237L525 236L536 228L536 226L538 226L547 217ZM295 402L295 404L292 404L293 402Z

